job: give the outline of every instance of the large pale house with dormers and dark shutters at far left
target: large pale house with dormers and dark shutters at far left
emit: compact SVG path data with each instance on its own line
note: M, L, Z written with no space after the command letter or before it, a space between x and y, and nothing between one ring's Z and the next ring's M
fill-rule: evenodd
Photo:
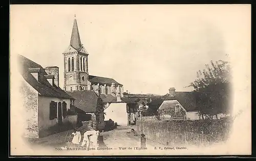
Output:
M25 137L41 138L73 128L77 115L70 111L74 98L59 88L58 67L42 68L39 64L18 55L23 97ZM71 124L70 124L71 123Z

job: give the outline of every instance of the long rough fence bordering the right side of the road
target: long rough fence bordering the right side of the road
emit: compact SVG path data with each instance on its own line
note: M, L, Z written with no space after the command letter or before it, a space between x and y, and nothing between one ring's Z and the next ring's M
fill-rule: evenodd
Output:
M169 145L211 144L225 141L229 135L231 121L219 120L158 120L155 117L142 117L137 120L138 133L145 138Z

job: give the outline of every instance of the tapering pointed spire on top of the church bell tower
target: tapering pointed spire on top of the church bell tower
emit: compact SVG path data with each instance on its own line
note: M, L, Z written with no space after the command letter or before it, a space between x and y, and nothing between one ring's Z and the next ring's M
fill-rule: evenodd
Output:
M75 15L75 19L74 19L74 25L73 25L73 29L72 29L70 45L77 50L82 46L79 32L78 32L77 22L76 22L76 15Z

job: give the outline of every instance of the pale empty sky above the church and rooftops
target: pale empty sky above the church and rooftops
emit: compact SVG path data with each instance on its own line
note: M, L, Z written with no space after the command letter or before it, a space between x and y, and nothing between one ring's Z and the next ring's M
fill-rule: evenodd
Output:
M89 74L114 78L130 93L191 91L185 87L211 60L234 70L249 60L249 5L11 5L11 56L58 66L63 88L75 14Z

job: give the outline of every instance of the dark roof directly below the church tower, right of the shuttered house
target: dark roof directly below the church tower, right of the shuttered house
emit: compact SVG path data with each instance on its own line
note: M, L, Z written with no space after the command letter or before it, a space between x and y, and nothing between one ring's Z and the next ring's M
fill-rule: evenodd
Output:
M98 96L94 91L72 91L67 92L75 98L75 106L84 112L95 112Z

